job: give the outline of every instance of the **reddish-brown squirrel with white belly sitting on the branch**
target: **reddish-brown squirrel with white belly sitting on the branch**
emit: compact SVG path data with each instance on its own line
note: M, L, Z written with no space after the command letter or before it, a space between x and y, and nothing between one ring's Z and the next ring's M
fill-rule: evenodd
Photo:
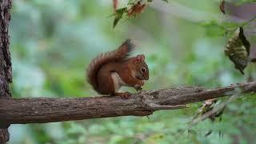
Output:
M121 86L142 90L144 80L149 79L149 70L144 54L130 57L134 50L130 39L117 50L99 54L87 68L87 81L99 94L110 94L128 98L129 92L118 93Z

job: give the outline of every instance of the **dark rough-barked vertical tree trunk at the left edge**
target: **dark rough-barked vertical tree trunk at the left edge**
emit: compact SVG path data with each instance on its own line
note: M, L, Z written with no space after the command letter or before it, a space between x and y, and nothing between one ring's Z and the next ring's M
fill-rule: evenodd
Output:
M11 62L8 35L10 22L11 0L0 1L0 98L10 98L9 83L11 82ZM0 99L2 102L2 99ZM0 143L9 141L8 125L0 119ZM2 128L2 129L1 129Z

